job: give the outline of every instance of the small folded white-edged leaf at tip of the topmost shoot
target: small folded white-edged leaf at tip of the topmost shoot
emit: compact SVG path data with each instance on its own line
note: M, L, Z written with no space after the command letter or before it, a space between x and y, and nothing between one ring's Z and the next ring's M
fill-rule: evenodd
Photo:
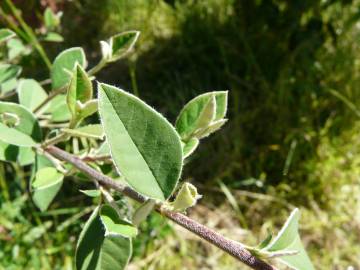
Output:
M117 61L134 47L137 39L139 38L139 31L127 31L115 36L112 36L109 40L109 47L111 48L111 57L109 62ZM102 45L102 51L104 52L104 45ZM106 55L106 54L105 54Z

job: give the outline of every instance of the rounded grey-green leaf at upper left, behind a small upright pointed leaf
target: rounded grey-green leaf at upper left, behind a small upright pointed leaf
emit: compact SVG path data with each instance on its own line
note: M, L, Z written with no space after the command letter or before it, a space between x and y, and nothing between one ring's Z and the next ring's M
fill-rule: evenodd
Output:
M80 47L62 51L55 58L51 68L51 82L53 89L62 88L70 82L71 74L76 63L83 68L86 66L85 53Z

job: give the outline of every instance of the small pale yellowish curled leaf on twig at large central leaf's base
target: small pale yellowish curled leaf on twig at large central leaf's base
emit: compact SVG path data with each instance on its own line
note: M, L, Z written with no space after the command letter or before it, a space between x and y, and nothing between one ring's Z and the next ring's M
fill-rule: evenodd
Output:
M201 198L201 195L197 193L197 189L194 185L185 182L180 191L178 192L175 201L171 203L174 211L184 211L189 207L192 207Z

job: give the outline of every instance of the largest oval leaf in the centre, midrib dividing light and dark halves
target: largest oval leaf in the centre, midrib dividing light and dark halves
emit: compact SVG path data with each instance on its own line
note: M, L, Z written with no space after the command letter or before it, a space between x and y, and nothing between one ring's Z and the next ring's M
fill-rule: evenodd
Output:
M117 169L137 192L166 200L182 169L177 132L137 97L106 84L98 90L100 117Z

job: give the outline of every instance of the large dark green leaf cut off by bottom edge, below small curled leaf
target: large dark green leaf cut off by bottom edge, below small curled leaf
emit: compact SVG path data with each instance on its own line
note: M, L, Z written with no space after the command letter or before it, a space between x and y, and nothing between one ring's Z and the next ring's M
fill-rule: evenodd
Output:
M131 238L104 236L97 207L80 233L75 254L76 269L122 270L131 254Z

